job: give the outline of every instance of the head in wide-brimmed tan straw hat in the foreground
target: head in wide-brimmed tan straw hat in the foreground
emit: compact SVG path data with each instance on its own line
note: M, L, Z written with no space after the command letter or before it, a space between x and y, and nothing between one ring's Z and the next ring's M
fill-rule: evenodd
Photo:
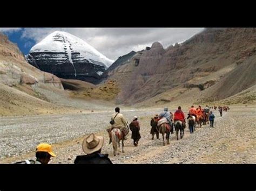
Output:
M104 138L102 136L96 136L91 133L83 141L82 147L85 154L100 153L104 143Z

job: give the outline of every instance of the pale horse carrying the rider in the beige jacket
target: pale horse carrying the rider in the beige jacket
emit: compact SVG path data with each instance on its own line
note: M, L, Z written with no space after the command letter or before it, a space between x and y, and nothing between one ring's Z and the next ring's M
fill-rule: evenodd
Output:
M120 141L122 140L122 152L124 153L124 136L120 129L114 128L110 132L113 144L114 156L120 153Z

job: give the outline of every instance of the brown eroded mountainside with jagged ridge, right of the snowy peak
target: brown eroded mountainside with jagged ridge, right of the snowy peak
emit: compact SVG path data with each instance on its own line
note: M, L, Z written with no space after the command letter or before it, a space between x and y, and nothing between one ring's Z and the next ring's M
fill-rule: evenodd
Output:
M254 68L256 63L255 44L256 30L252 28L206 29L166 49L153 43L150 49L137 52L129 63L113 70L110 77L118 79L121 87L117 102L138 103L176 87L197 88L207 93L205 97L234 95L252 86L253 79L255 82L246 69ZM234 80L241 79L239 76L245 79L241 85Z

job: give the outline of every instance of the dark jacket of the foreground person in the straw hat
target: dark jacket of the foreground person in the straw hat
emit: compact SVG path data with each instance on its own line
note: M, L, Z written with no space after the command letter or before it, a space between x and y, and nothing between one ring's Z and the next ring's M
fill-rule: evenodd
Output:
M108 154L92 153L79 155L76 157L74 164L113 164L108 158Z

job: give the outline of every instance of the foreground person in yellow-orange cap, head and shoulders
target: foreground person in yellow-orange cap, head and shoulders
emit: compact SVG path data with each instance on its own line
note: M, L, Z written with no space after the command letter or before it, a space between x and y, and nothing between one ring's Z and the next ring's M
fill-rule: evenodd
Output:
M51 157L56 157L56 154L52 152L51 145L46 143L41 143L36 148L36 161L35 160L25 160L21 162L15 162L15 164L43 164L47 165Z

